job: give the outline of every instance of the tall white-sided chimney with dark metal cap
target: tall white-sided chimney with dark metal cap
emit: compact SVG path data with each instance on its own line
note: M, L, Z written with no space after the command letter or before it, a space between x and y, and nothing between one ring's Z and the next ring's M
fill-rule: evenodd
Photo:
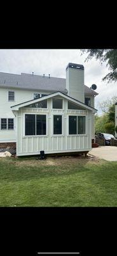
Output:
M84 103L84 88L84 66L69 63L66 68L66 89L68 90L68 95Z

